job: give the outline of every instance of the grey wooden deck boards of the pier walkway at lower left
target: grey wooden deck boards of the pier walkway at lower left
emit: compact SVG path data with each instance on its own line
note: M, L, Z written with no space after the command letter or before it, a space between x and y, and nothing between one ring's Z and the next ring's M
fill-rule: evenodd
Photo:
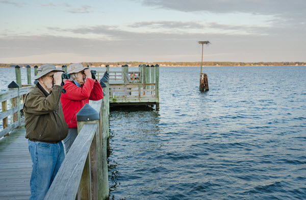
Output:
M29 199L32 161L24 126L0 140L0 199Z

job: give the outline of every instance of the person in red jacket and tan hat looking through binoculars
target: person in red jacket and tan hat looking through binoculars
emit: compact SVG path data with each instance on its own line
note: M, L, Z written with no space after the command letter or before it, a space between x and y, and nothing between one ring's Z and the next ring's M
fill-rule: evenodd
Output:
M68 124L68 135L63 140L65 152L68 153L73 141L78 136L76 115L89 100L98 101L103 98L103 91L96 79L92 79L90 69L81 63L74 63L67 67L70 79L66 80L61 95L61 103L65 122Z

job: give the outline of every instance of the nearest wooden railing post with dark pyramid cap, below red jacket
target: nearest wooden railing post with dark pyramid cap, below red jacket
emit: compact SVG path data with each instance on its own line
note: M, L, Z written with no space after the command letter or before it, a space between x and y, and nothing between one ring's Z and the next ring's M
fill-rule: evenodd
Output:
M78 133L80 133L84 124L96 123L99 125L99 114L89 104L85 104L77 113ZM78 199L98 199L98 182L101 179L100 160L100 130L96 130L89 153L83 169L80 186L78 190Z

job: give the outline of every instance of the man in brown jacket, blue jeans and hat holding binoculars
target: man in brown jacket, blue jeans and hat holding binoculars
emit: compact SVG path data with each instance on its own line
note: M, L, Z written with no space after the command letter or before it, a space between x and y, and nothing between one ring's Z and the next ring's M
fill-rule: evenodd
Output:
M61 93L62 73L54 65L38 68L38 83L25 95L25 138L32 158L30 199L43 199L65 158L62 140L68 127L64 120Z

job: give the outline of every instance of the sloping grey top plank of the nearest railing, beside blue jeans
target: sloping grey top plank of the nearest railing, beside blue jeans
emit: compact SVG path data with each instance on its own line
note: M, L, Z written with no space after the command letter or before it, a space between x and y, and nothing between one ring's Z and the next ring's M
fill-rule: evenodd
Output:
M97 124L84 124L74 140L45 199L75 199Z

